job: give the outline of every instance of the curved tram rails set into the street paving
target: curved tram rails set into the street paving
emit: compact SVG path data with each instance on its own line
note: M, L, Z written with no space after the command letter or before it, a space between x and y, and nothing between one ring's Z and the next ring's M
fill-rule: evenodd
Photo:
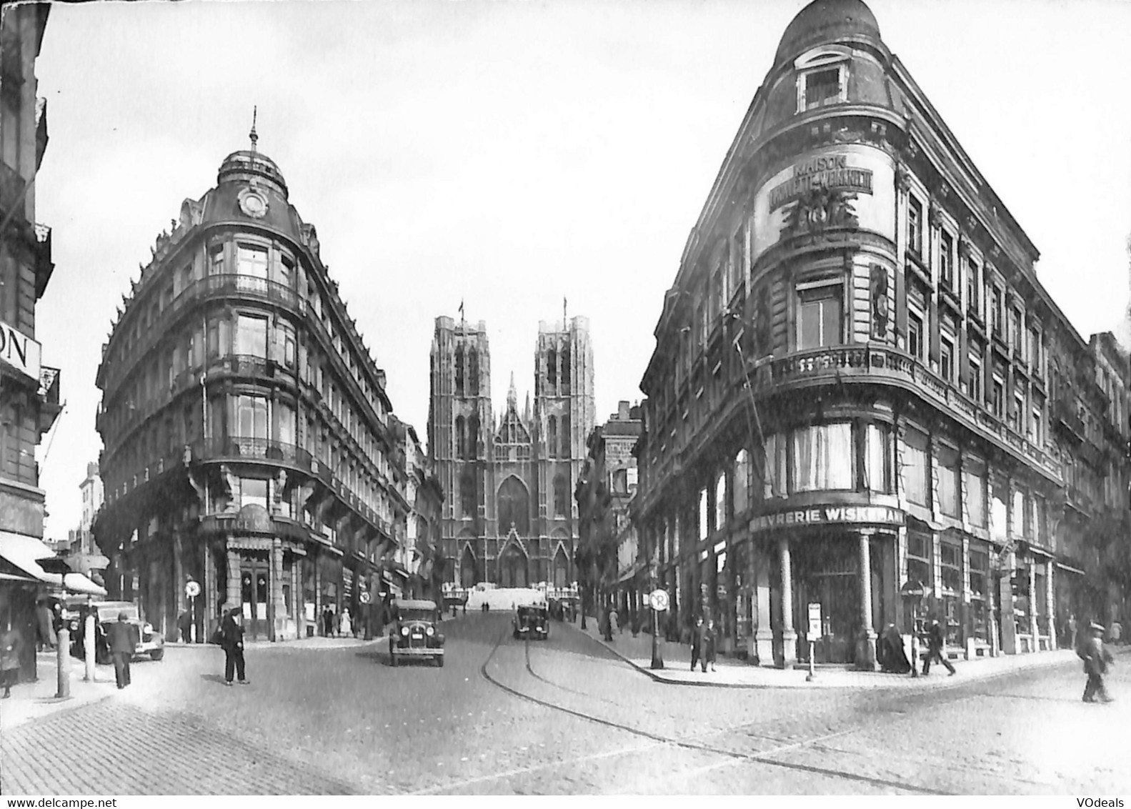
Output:
M843 771L843 769L836 769L836 768L832 768L832 767L822 767L822 766L802 764L802 763L796 763L796 761L783 761L783 760L779 760L777 758L772 758L772 756L779 756L779 755L782 755L784 752L789 752L789 751L797 750L797 749L805 748L805 747L820 746L823 742L828 742L828 741L831 741L831 740L834 740L836 738L847 735L848 733L852 733L852 732L855 732L856 730L858 730L858 728L856 728L856 726L848 728L848 729L840 730L840 731L836 731L836 732L832 732L832 733L824 733L824 734L818 734L818 735L809 737L809 738L801 739L801 740L797 740L797 741L792 741L792 742L788 742L788 743L784 743L784 745L780 745L778 747L770 748L769 750L765 750L765 751L761 751L761 752L758 752L758 754L751 754L751 752L742 752L742 751L739 751L739 750L727 750L725 748L720 748L720 747L715 747L715 746L711 746L711 745L707 745L707 743L703 743L701 741L697 741L696 740L697 737L679 738L679 737L674 737L674 735L664 735L663 733L654 733L654 732L645 730L642 728L636 728L636 726L632 726L632 725L629 725L629 724L624 724L623 722L616 722L614 720L608 720L608 718L605 718L603 716L594 715L592 713L586 713L584 711L578 711L578 709L571 708L571 707L569 707L567 705L562 705L560 703L551 702L550 699L543 699L541 697L536 697L533 694L527 694L527 692L525 692L523 690L519 690L518 688L515 688L513 686L510 686L510 685L507 685L506 682L500 681L499 679L497 679L495 677L493 677L491 674L491 672L487 670L489 666L490 666L490 664L491 664L491 661L494 659L495 654L499 651L499 647L502 646L502 644L506 640L506 638L507 638L507 632L506 631L503 631L503 632L501 632L499 635L499 638L495 640L494 645L491 647L491 652L487 654L486 659L483 661L483 664L480 666L480 674L481 674L481 677L486 682L489 682L491 686L498 688L499 690L501 690L501 691L503 691L506 694L509 694L510 696L512 696L515 698L523 699L523 700L532 703L534 705L538 705L538 706L542 706L544 708L549 708L550 711L555 711L558 713L567 714L567 715L570 715L570 716L584 720L586 722L592 722L594 724L598 724L598 725L602 725L602 726L605 726L605 728L612 728L612 729L615 729L615 730L629 733L629 734L631 734L633 737L638 737L638 738L641 738L641 739L647 739L647 740L654 742L656 746L676 747L676 748L682 748L682 749L685 749L685 750L694 750L694 751L698 751L698 752L706 752L706 754L710 754L710 755L715 755L715 756L723 756L724 759L726 759L724 761L716 763L716 764L713 764L713 765L707 765L705 767L700 767L700 768L698 768L696 771L692 771L690 773L691 775L707 773L707 772L711 772L711 771L715 771L715 769L720 769L720 768L723 768L725 766L733 766L733 765L736 765L736 764L746 763L746 764L761 764L761 765L766 765L766 766L770 766L770 767L778 767L778 768L783 768L783 769L789 769L789 771L800 772L800 773L808 773L808 774L812 774L812 775L823 775L823 776L827 776L827 777L840 778L840 780L844 780L844 781L851 781L851 782L855 782L855 783L865 783L865 784L870 784L872 786L879 786L879 788L883 788L883 789L903 790L905 792L914 792L914 793L917 793L917 794L929 794L929 795L950 794L950 793L944 792L944 791L934 790L934 789L931 789L931 788L927 788L927 786L922 786L920 784L914 784L914 783L909 783L909 782L897 781L897 780L891 780L891 778L873 777L873 776L863 775L863 774L860 774L860 773L852 773L852 772L847 772L847 771ZM570 688L567 688L564 686L561 686L559 683L555 683L555 682L549 680L547 678L544 678L544 677L539 675L537 672L535 672L534 671L534 666L530 663L529 642L528 640L525 642L524 646L525 646L525 648L524 648L525 668L526 668L527 673L530 674L534 679L536 679L538 681L542 681L542 682L544 682L544 683L546 683L546 685L549 685L549 686L551 686L553 688L558 688L558 689L561 689L563 691L568 691L570 694L575 694L577 696L582 696L582 697L588 697L589 696L589 695L582 694L580 691L576 691L573 689L570 689ZM732 729L726 729L726 730L723 730L723 731L715 731L715 732L710 733L709 735L718 735L720 733L729 733L729 732L740 732L741 733L743 731L740 728L732 728ZM702 738L702 735L700 735L699 738ZM623 751L623 754L631 754L633 751L634 751L633 749L629 749L629 750ZM613 752L611 755L621 755L621 754ZM572 761L549 763L549 764L545 765L545 768L551 768L551 767L554 767L554 766L561 766L563 764L570 764L570 763L572 763ZM580 763L580 761L578 760L577 763ZM500 774L498 777L502 778L502 777L507 777L507 775L506 774Z

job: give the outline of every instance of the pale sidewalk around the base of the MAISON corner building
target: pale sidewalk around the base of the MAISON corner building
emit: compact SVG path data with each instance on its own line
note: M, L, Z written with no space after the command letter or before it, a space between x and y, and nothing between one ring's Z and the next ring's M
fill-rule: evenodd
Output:
M613 643L605 643L597 632L597 621L586 619L586 629L579 623L566 625L575 631L588 635L594 643L608 648L618 657L632 665L657 682L682 686L713 686L715 688L953 688L972 680L1003 677L1015 671L1051 666L1065 663L1077 664L1079 659L1072 649L1036 652L1031 654L1000 655L977 660L953 660L957 670L949 677L946 666L934 664L931 673L917 678L910 674L886 674L879 671L853 671L838 666L818 666L812 682L806 682L808 670L775 669L751 665L733 657L719 657L716 671L703 672L699 668L690 670L691 647L687 644L661 644L664 669L654 671L651 665L651 635L640 632L632 637L628 630L613 635ZM1112 647L1116 655L1131 654L1131 646Z

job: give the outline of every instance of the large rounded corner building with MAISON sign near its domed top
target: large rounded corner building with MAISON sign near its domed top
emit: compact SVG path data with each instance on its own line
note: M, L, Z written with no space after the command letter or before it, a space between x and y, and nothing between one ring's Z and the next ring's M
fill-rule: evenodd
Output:
M1091 441L1065 424L1106 399L1037 258L871 10L797 14L641 381L636 520L670 637L713 616L724 653L872 669L914 605L964 657L1056 646L1087 522L1063 466Z

